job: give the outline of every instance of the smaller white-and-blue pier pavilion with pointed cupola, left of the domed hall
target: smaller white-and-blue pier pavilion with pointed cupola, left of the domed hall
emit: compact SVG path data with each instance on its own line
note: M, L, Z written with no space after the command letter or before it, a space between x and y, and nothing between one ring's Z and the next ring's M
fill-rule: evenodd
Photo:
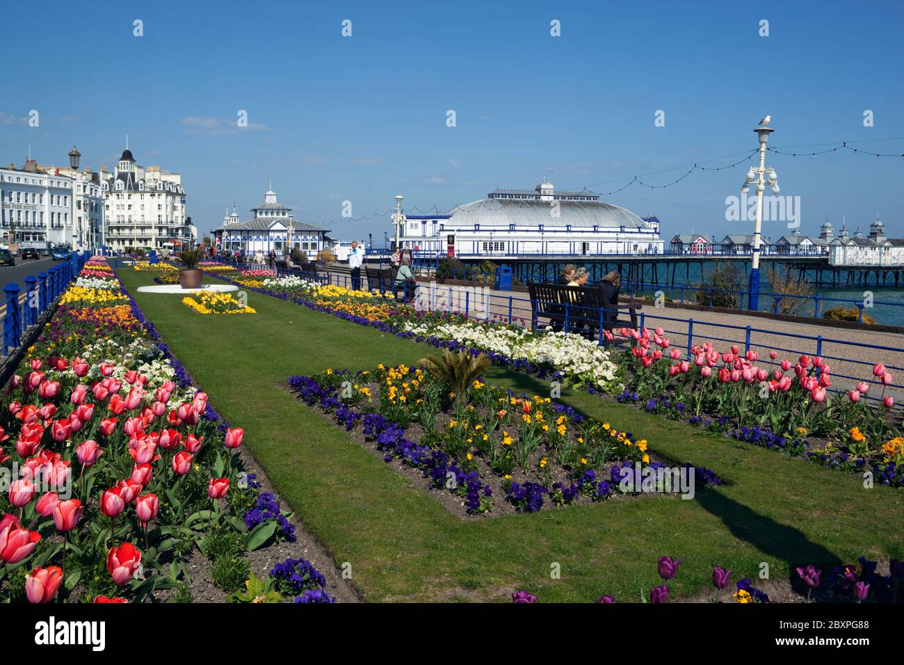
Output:
M212 230L214 246L224 252L267 255L272 251L279 256L287 254L291 248L308 259L315 259L317 252L327 248L325 235L328 229L300 222L290 214L291 211L287 205L277 202L276 192L272 189L264 195L263 204L251 208L254 215L247 222L239 221L235 204L232 204L232 214L227 209L222 225Z

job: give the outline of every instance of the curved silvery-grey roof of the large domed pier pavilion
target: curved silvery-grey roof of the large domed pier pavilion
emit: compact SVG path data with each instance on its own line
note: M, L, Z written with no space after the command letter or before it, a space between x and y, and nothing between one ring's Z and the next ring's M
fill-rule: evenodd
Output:
M559 192L559 194L563 194ZM549 201L485 198L469 204L458 205L449 211L449 224L473 226L582 226L626 230L647 230L650 225L625 208L601 201L560 200L560 216L551 216Z

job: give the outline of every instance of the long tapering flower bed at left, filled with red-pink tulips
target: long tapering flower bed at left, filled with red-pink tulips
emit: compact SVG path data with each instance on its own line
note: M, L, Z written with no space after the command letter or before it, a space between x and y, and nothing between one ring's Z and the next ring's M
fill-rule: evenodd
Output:
M106 283L71 286L5 390L0 602L187 601L199 550L240 591L245 553L294 529L113 271L81 278Z

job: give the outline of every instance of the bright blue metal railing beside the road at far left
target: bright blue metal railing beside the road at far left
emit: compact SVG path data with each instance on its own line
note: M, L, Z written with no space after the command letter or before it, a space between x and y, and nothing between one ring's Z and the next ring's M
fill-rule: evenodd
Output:
M41 315L69 288L88 259L88 252L72 252L69 260L53 266L49 271L26 277L24 290L15 282L4 287L4 356L10 356L22 346L24 334L38 323Z

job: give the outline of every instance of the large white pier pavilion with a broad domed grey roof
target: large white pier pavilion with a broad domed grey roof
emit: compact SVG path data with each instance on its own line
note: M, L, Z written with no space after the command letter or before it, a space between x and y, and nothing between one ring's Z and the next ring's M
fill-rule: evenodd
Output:
M661 254L659 220L641 218L589 191L497 189L448 214L406 215L400 246L456 256Z

